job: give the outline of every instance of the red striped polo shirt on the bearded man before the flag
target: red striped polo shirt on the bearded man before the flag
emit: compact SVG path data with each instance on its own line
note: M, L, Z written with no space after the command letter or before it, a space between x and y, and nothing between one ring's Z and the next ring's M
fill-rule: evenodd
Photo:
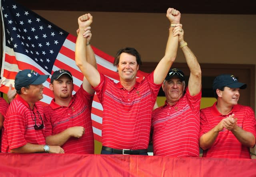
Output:
M94 153L94 138L92 131L92 100L94 94L88 94L82 85L72 96L68 107L54 102L44 107L45 136L58 134L67 128L83 126L85 134L81 138L71 137L62 145L65 153Z

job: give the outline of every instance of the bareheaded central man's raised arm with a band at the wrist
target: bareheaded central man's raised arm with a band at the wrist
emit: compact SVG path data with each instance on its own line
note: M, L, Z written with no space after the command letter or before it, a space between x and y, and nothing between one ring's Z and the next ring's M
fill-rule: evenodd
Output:
M164 57L160 60L154 71L154 83L162 84L172 63L174 62L178 49L178 35L174 36L174 27L180 23L180 12L174 8L168 8L166 17L170 21L169 37L166 44Z

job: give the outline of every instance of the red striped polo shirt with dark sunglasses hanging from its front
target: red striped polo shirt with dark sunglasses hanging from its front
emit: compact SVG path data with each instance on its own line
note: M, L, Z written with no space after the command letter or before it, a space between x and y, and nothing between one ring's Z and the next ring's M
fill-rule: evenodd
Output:
M31 110L28 103L19 95L12 100L4 119L2 152L10 152L11 149L19 148L27 143L45 144L44 128L34 129L35 116L36 124L38 126L42 124L39 115L43 119L44 112L39 102L36 102L34 110Z

